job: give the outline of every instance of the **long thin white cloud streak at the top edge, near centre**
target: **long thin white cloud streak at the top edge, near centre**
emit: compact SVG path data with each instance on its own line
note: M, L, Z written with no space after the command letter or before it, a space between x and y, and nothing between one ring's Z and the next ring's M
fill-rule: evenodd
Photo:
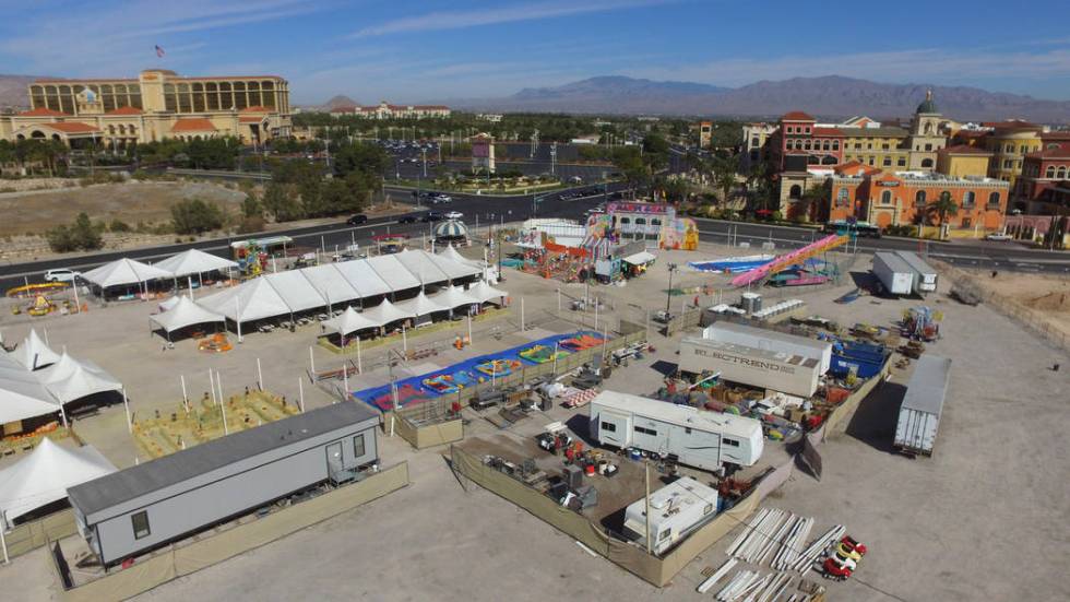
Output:
M665 0L591 0L587 2L542 2L537 4L514 4L486 10L440 11L417 16L405 16L379 25L364 27L353 37L381 36L412 32L461 29L479 25L536 21L575 14L607 12L622 9L649 7L665 3Z

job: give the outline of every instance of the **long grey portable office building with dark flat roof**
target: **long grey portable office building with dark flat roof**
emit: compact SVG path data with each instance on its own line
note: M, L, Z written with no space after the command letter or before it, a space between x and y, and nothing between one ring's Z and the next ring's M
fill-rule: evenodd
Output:
M201 444L68 489L105 566L378 463L379 416L343 402Z

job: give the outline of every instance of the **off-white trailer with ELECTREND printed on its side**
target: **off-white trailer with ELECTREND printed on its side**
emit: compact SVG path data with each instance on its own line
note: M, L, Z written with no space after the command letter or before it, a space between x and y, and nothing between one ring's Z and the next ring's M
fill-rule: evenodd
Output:
M821 363L793 353L687 337L680 341L680 371L721 373L740 385L808 398L818 390Z

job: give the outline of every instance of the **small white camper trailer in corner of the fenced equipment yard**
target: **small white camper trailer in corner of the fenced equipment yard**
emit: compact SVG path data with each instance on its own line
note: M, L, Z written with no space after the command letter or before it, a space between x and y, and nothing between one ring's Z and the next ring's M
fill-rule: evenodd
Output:
M652 548L661 554L717 514L717 489L682 476L650 496ZM646 547L646 500L625 510L625 534Z

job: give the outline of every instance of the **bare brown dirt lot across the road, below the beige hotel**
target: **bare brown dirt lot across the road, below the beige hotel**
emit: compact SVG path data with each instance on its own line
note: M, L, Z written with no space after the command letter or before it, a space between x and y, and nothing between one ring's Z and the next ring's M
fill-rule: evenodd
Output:
M245 194L207 182L128 181L71 188L0 194L0 236L40 234L57 224L69 224L85 212L93 221L110 223L118 217L135 226L170 220L170 206L181 200L200 198L236 209Z

